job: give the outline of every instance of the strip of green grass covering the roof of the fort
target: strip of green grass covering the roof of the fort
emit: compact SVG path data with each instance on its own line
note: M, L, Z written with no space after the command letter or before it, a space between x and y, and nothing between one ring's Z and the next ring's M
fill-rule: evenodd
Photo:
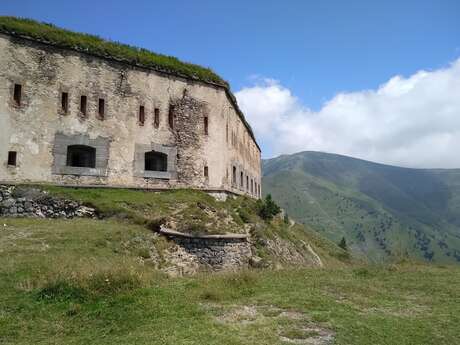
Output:
M230 86L210 68L183 62L176 57L157 54L144 48L105 40L95 35L65 30L53 24L41 23L27 18L0 16L0 33L221 86L225 89L235 110L256 142L251 126L239 109L235 96L230 92Z

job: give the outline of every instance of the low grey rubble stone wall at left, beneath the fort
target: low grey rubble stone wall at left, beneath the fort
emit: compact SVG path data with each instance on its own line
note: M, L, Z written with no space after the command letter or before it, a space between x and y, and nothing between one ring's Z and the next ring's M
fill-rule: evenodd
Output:
M56 198L38 188L0 185L0 216L94 217L95 210L77 201Z

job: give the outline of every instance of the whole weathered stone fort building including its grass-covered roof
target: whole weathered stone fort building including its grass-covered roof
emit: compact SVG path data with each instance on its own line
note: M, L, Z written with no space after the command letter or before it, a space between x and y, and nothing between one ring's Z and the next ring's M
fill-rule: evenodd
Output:
M0 182L260 197L260 158L209 69L0 17Z

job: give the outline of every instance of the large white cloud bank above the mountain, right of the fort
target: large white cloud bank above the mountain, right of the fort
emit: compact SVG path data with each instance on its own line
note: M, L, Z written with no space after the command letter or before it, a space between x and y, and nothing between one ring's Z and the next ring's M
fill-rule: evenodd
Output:
M325 151L408 167L460 168L460 59L340 93L315 112L279 82L236 93L265 157Z

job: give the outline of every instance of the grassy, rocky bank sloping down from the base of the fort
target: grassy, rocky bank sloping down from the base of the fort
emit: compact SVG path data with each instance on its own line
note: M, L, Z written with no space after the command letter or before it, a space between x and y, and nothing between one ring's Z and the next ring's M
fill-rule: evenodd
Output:
M286 222L281 217L262 219L261 202L248 197L229 197L222 202L202 191L188 189L152 192L50 185L17 186L14 193L21 197L37 190L55 198L76 200L95 208L100 219L140 225L148 233L156 233L163 226L193 235L248 234L263 265L313 264L315 254L326 266L337 267L350 261L346 251L307 226ZM160 254L163 245L162 241L158 246L153 244Z

